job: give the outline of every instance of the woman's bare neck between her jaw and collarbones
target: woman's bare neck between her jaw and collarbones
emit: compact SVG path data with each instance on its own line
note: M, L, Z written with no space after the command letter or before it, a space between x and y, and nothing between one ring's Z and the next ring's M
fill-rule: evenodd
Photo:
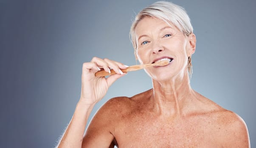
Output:
M187 99L194 95L188 75L185 73L183 77L161 82L152 79L152 83L154 109L160 114L180 117Z

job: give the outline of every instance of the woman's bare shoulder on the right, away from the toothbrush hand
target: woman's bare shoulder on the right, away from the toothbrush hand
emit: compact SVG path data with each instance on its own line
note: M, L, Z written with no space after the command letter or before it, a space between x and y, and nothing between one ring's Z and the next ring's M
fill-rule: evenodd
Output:
M208 127L224 147L249 148L250 140L245 121L235 112L226 110L214 101L198 94L197 114L208 121ZM193 104L194 105L194 104Z

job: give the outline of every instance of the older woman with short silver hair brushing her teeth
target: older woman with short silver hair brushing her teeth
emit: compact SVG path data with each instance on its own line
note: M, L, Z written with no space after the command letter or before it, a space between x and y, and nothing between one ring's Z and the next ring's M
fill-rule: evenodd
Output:
M85 126L93 106L107 93L127 66L93 58L82 67L82 93L60 148L248 148L245 122L190 86L191 55L196 36L186 11L173 3L144 8L131 27L132 44L141 64L169 60L146 68L153 88L105 103ZM117 74L95 77L100 69Z

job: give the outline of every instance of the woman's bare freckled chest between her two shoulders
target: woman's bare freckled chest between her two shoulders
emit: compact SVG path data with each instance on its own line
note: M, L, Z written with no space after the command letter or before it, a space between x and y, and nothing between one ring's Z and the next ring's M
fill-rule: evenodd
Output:
M215 126L209 117L172 119L138 111L122 117L115 138L119 148L216 148L219 128Z

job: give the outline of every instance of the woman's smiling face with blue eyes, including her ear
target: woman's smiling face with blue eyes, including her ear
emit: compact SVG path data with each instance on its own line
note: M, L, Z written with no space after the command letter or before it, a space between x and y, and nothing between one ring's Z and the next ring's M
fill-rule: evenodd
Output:
M143 18L135 28L137 57L140 63L155 63L167 58L167 66L149 67L145 71L152 79L165 80L187 74L188 57L195 50L195 36L184 36L174 25L155 17Z

